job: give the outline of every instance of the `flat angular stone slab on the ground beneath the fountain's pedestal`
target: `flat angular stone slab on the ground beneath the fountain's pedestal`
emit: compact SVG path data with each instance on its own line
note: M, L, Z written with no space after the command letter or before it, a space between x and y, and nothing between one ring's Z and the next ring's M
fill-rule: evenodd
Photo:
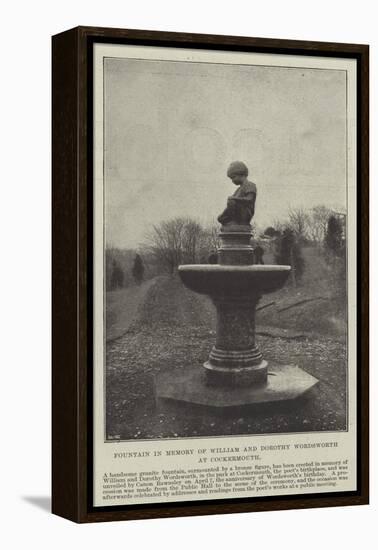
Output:
M205 369L200 366L163 372L155 377L157 406L176 405L232 411L245 407L293 402L304 396L318 379L299 367L269 366L265 385L250 387L212 387L207 385Z

